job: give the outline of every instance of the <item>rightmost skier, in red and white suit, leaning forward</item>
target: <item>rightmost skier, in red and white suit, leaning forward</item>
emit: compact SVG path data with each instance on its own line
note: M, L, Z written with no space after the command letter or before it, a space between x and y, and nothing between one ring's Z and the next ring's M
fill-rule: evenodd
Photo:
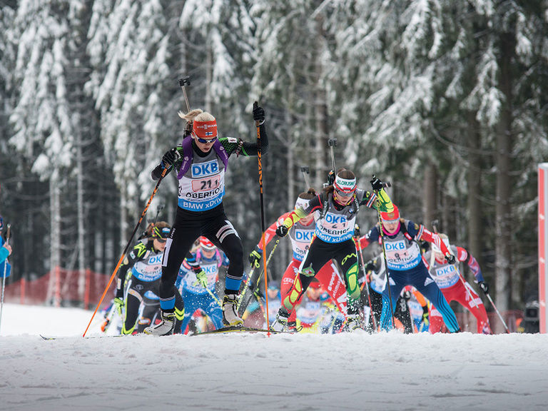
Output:
M465 250L465 248L450 245L447 235L440 234L440 238L447 248L450 248L452 254L457 257L457 261L468 264L482 291L488 293L489 286L485 283L480 265L472 254ZM467 281L465 281L465 284L462 283L456 264L447 263L440 248L437 248L435 244L432 245L432 250L425 253L424 260L430 275L435 280L437 286L440 287L440 290L442 290L445 299L448 302L452 300L459 302L475 316L478 333L492 334L489 327L489 319L487 318L487 311L485 311L482 299ZM470 296L472 296L472 299ZM442 325L442 317L432 305L430 308L430 333L439 333Z

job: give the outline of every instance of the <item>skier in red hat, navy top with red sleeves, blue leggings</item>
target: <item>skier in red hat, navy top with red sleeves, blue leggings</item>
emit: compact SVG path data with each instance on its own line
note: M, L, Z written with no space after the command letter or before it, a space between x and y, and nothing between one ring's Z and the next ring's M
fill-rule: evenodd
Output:
M382 330L392 329L392 315L396 307L396 300L400 296L402 288L405 285L412 285L430 302L437 306L442 313L443 320L451 333L460 331L459 324L455 313L451 309L447 300L442 294L442 291L437 286L435 281L430 277L428 269L422 260L422 254L417 241L425 240L429 243L434 243L442 250L445 259L450 263L455 263L455 255L447 250L447 247L442 242L437 234L430 233L424 225L415 224L410 220L400 218L400 211L394 205L394 210L390 213L380 213L382 220L382 230L384 233L386 263L388 273L390 274L390 285L382 291L382 313L380 315L380 328ZM360 238L362 248L367 247L370 243L375 243L379 239L380 225L377 223L375 227L369 230L369 233ZM388 298L390 296L392 303ZM392 313L390 313L392 307Z

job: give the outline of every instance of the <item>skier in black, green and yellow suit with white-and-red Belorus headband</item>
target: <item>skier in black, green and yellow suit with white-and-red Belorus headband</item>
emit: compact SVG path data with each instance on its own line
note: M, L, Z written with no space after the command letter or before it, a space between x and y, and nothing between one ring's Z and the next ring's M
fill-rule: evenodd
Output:
M371 181L374 191L379 193L381 210L391 211L392 201L382 188L382 181L374 178ZM337 260L342 269L347 293L347 329L352 331L362 328L360 319L360 286L357 282L356 245L352 236L356 215L360 205L369 208L377 207L377 195L356 188L356 176L352 171L342 168L338 171L333 185L325 188L323 193L310 200L307 208L298 208L285 218L283 225L276 229L276 234L283 237L300 219L315 210L320 210L316 222L315 238L305 255L295 283L288 296L283 299L283 306L278 311L273 330L283 331L288 328L288 318L300 297L306 292L316 273L332 258Z

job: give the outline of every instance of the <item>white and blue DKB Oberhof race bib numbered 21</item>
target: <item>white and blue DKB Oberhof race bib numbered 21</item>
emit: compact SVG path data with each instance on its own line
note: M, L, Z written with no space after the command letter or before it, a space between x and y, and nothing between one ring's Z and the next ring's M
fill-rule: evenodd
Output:
M178 205L190 211L217 207L225 194L225 166L215 150L193 156L192 164L179 180Z

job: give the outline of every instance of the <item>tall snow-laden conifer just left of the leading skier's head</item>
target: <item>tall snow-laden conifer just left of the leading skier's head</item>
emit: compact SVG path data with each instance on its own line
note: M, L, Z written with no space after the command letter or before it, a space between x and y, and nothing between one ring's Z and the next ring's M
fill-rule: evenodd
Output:
M167 64L164 13L158 0L93 3L88 31L93 73L86 91L101 113L101 140L121 194L121 243L152 191L150 171L163 153L161 125L176 116L163 111L166 90L176 86Z

